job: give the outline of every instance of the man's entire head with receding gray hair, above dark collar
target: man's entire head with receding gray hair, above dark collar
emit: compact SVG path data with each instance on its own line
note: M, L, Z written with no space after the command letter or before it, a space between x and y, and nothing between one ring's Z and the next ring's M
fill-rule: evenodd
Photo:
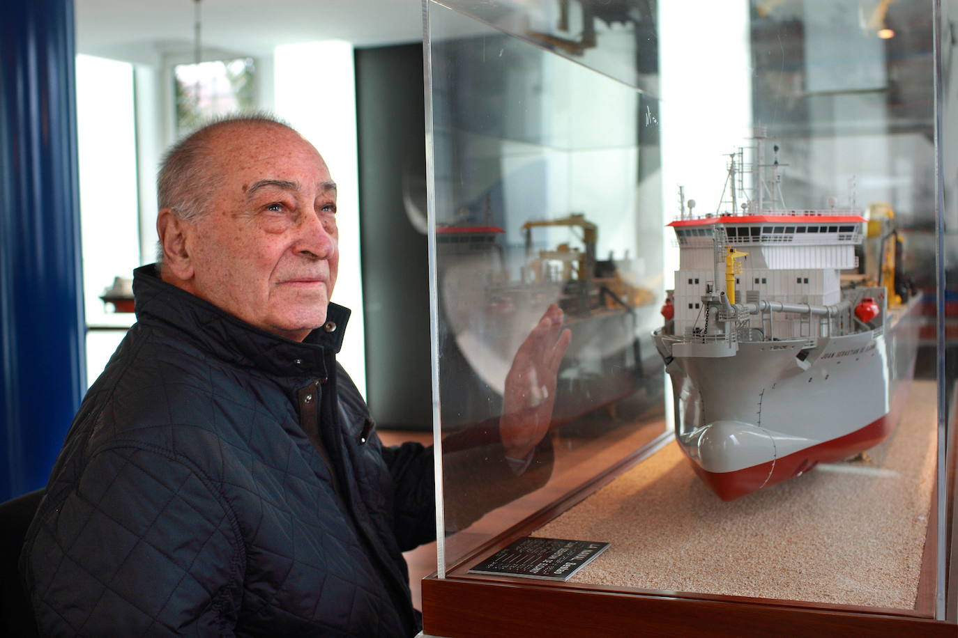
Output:
M285 339L323 325L336 186L303 136L270 119L219 121L171 150L161 185L164 281Z

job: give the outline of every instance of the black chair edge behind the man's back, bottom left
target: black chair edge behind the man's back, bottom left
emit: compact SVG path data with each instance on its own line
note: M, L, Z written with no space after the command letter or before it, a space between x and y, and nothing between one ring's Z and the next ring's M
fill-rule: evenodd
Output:
M37 635L33 608L20 582L17 561L43 493L37 490L0 503L0 634L5 636Z

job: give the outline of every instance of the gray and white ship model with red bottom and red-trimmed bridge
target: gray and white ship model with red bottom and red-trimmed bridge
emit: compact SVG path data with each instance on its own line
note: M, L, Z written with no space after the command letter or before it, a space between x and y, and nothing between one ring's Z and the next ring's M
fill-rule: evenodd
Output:
M764 135L755 141L750 192L740 150L726 183L732 209L693 216L695 202L683 201L670 224L679 270L654 333L676 439L725 500L878 444L897 424L916 345L907 316L917 298L901 305L895 279L897 235L878 238L890 249L878 282L841 275L857 266L865 218L833 201L786 209L778 161L763 165Z

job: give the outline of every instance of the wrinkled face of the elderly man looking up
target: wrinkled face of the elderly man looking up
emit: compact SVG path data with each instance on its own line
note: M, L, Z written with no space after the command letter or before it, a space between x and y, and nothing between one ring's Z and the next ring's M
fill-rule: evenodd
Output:
M316 149L280 126L218 133L225 176L186 248L191 292L302 341L326 321L339 266L336 187Z

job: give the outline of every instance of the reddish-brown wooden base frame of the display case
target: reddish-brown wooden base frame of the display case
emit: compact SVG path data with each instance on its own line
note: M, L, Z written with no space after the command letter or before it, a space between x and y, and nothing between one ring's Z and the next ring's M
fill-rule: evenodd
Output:
M934 410L934 406L930 406ZM933 414L932 417L933 419ZM930 421L929 421L930 423ZM952 440L955 423L950 424ZM934 446L932 446L932 450ZM955 446L949 445L946 481L948 517L954 517ZM933 454L933 452L932 452ZM593 482L593 489L629 470L624 464ZM459 638L468 636L605 636L605 635L955 635L954 620L934 620L937 557L936 494L925 528L924 554L914 608L796 602L755 596L702 594L665 589L643 589L618 584L548 583L528 579L468 574L468 567L506 546L513 539L536 532L557 512L581 501L570 495L564 502L533 520L509 530L464 560L452 565L445 579L436 575L422 582L424 633ZM584 503L583 503L584 505ZM551 523L550 523L551 525ZM635 530L641 534L641 529ZM593 530L585 534L600 539ZM564 537L568 538L568 537ZM950 537L948 542L951 542ZM953 547L953 545L949 546ZM614 547L614 544L613 544ZM601 561L593 563L601 567ZM577 579L578 580L578 579Z

